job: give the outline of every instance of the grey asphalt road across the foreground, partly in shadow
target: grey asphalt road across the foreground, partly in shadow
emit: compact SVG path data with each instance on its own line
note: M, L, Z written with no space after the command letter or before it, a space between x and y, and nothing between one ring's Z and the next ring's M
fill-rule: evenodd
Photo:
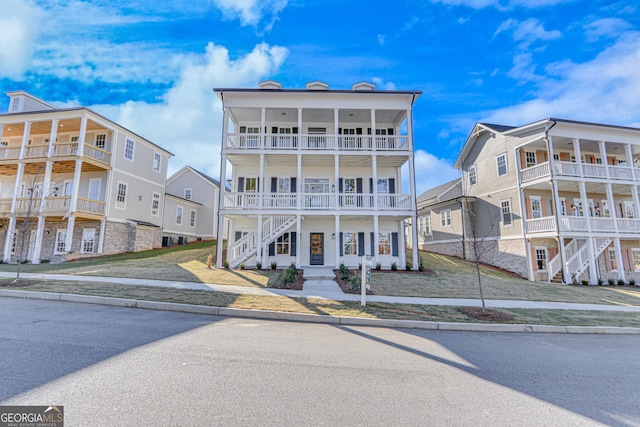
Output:
M0 298L0 404L67 426L640 426L640 336L338 327Z

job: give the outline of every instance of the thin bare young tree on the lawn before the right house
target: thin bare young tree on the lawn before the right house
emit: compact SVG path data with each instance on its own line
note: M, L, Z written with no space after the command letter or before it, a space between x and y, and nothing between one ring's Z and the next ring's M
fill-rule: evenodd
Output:
M478 289L482 300L482 312L485 311L484 292L482 290L482 274L480 264L492 264L493 256L497 250L498 222L500 221L500 207L486 203L482 200L463 200L462 214L464 215L464 228L466 238L465 245L468 255L475 263L478 278Z

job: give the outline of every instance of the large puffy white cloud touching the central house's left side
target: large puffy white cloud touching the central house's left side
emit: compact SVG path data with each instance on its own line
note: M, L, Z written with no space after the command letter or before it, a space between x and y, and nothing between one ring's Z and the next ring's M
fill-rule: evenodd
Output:
M226 48L209 43L204 55L188 59L162 102L93 108L175 154L169 173L188 164L218 177L222 111L213 88L257 87L276 72L287 53L286 48L260 44L231 60Z

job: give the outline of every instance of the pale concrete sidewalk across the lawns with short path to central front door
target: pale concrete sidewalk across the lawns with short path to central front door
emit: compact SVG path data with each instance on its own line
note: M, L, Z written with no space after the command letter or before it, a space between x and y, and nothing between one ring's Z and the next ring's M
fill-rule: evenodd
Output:
M309 273L307 273L309 270ZM329 274L330 273L330 274ZM123 285L159 286L175 289L193 289L205 291L229 292L233 294L286 296L291 298L320 298L334 301L360 301L360 295L345 294L333 280L335 275L330 269L305 269L307 279L301 291L289 289L254 288L249 286L229 286L196 282L179 282L169 280L134 279L124 277L100 277L80 276L74 274L42 274L21 273L25 279L67 280L83 282L105 282ZM0 272L0 277L15 277L13 272ZM394 297L383 295L367 296L368 302L385 302L392 304L417 304L417 305L441 305L441 306L468 306L480 307L479 299L455 299L455 298L419 298L419 297ZM491 308L528 308L551 310L597 310L640 313L640 307L605 304L580 304L551 301L517 301L517 300L485 300L487 307Z

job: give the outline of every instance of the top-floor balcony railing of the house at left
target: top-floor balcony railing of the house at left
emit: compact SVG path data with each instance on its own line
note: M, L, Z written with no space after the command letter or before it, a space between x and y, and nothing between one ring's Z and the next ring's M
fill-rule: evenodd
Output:
M53 144L51 156L49 154L49 145L29 145L24 152L25 160L40 160L50 158L56 160L68 160L78 158L78 143L56 143ZM79 159L91 160L109 166L111 164L111 153L93 145L85 144L83 155ZM20 159L20 147L2 147L0 148L0 160L14 162Z

